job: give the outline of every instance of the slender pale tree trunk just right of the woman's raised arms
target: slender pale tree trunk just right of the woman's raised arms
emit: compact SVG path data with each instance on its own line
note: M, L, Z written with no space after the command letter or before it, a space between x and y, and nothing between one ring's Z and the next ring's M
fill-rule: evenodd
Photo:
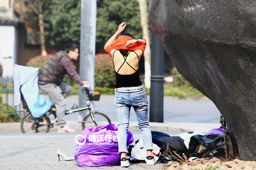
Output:
M142 38L146 39L147 46L144 50L144 67L145 67L145 75L144 75L144 86L145 88L150 88L150 44L149 44L149 33L148 33L148 7L146 0L137 0L140 8L140 17L141 17L141 28L142 28Z

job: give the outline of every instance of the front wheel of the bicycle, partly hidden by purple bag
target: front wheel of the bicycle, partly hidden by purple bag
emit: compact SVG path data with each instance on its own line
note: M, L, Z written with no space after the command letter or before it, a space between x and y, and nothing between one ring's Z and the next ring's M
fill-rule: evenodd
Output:
M91 115L92 115L92 117L91 117ZM93 121L93 119L94 119L94 121ZM106 116L103 113L95 112L92 114L88 114L84 117L84 120L82 121L82 127L83 127L83 129L85 129L85 128L92 128L94 126L107 125L110 123L111 123L111 121L108 118L108 116Z

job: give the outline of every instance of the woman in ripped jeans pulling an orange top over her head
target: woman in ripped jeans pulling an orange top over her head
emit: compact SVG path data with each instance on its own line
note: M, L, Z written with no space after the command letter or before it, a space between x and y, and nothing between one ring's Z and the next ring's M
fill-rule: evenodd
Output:
M143 149L147 151L144 159L148 165L154 165L156 160L152 154L152 136L148 124L148 100L139 77L139 61L144 53L146 40L133 39L130 33L121 33L126 25L126 22L122 22L104 46L106 52L113 58L115 68L115 107L119 121L117 133L120 137L118 152L121 154L121 167L128 167L130 163L126 155L128 152L127 131L132 106L142 133Z

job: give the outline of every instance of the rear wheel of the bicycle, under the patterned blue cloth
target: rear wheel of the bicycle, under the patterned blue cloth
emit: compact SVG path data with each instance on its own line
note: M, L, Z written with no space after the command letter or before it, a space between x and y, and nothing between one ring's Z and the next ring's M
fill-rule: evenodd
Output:
M48 117L38 118L35 122L35 118L31 113L26 113L21 120L21 131L22 133L44 133L49 132L51 121Z

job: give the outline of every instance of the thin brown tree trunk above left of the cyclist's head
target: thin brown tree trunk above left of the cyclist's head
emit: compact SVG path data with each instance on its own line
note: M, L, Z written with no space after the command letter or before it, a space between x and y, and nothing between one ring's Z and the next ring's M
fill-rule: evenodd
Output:
M41 44L41 54L42 56L46 56L46 45L45 45L45 37L44 37L44 20L43 20L43 10L42 5L38 3L38 23L39 23L39 29L40 29L40 44Z

